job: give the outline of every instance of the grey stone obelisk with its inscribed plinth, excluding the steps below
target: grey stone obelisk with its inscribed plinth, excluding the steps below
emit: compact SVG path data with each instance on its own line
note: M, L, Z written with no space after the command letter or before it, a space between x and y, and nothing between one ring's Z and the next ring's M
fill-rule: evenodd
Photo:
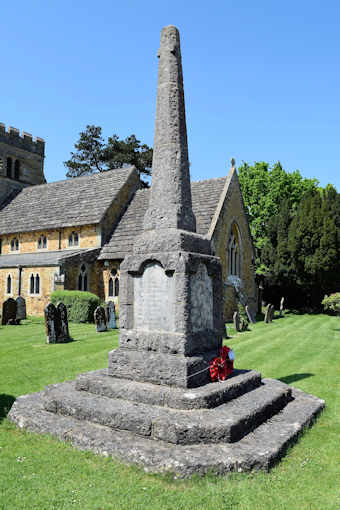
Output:
M108 371L186 388L209 381L222 344L221 264L196 233L177 28L162 30L158 56L151 196L143 233L121 264L119 348Z

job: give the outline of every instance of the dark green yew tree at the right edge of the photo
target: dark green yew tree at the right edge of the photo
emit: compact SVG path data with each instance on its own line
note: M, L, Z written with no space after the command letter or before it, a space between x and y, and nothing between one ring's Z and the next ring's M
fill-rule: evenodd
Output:
M340 289L340 194L330 185L310 190L296 211L283 202L268 232L266 299L285 295L294 308L320 309L324 295Z

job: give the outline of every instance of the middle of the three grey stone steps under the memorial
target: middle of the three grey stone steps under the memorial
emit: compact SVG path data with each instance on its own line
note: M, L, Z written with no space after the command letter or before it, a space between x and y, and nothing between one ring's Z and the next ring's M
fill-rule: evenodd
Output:
M70 382L46 390L45 409L175 444L229 443L271 418L290 398L289 386L268 379L262 386L214 409L180 411L77 391L74 382Z

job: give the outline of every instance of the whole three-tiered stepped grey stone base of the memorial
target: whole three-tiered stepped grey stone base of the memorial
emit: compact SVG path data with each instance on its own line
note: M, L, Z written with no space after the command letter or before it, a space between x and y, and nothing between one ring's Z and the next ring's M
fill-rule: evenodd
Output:
M183 389L111 377L105 369L19 397L8 417L80 450L190 477L268 470L324 405L255 371Z

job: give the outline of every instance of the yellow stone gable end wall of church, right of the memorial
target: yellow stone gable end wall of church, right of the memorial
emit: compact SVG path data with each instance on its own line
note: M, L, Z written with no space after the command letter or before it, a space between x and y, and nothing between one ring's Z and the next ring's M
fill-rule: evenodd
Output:
M240 234L240 278L243 282L242 291L247 296L250 309L256 313L257 288L253 266L253 244L236 173L231 177L228 192L212 234L212 246L215 255L220 257L222 262L222 277L224 283L228 281L228 241L235 223ZM235 310L237 310L237 301L234 287L232 285L224 285L225 320L230 320Z

